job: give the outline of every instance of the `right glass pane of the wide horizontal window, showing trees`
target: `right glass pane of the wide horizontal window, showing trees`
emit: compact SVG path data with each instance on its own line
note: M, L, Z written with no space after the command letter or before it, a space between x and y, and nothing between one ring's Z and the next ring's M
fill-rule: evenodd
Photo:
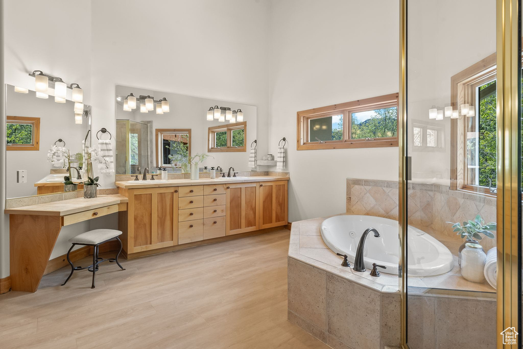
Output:
M397 108L382 108L352 113L351 138L397 136Z

